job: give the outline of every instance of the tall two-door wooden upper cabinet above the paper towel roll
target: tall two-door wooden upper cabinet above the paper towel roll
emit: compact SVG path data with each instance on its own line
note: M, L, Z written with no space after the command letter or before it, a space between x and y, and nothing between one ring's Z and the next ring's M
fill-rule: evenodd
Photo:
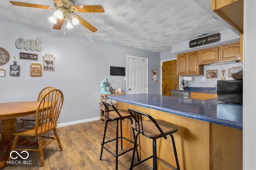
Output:
M198 64L198 51L177 55L177 75L202 75L203 66Z

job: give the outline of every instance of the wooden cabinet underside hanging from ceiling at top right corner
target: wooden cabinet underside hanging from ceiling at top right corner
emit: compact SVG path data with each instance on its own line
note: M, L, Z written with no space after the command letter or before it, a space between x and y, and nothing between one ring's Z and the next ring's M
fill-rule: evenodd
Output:
M244 0L212 0L212 10L243 34Z

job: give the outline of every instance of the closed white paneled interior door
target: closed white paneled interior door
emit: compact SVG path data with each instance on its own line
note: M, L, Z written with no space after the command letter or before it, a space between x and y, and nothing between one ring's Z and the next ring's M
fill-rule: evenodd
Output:
M148 93L148 59L127 55L127 93Z

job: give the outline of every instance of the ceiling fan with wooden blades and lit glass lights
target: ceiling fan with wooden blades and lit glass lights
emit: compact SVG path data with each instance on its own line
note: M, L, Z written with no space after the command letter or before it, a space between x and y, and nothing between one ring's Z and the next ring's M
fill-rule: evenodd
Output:
M12 5L15 6L26 6L32 8L43 8L49 10L56 10L54 14L49 18L54 22L53 29L60 30L64 21L67 23L67 28L73 28L73 25L82 24L91 32L96 32L98 29L88 23L86 20L80 16L73 14L74 12L104 12L104 8L101 5L77 5L70 0L54 0L54 6L40 5L40 4L31 4L26 2L14 2L10 1ZM72 25L72 24L73 25Z

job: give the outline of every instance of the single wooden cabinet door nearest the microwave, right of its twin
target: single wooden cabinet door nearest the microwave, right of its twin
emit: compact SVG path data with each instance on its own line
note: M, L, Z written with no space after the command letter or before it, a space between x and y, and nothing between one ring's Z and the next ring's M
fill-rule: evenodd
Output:
M240 54L240 42L220 46L220 61L239 60L236 55Z

